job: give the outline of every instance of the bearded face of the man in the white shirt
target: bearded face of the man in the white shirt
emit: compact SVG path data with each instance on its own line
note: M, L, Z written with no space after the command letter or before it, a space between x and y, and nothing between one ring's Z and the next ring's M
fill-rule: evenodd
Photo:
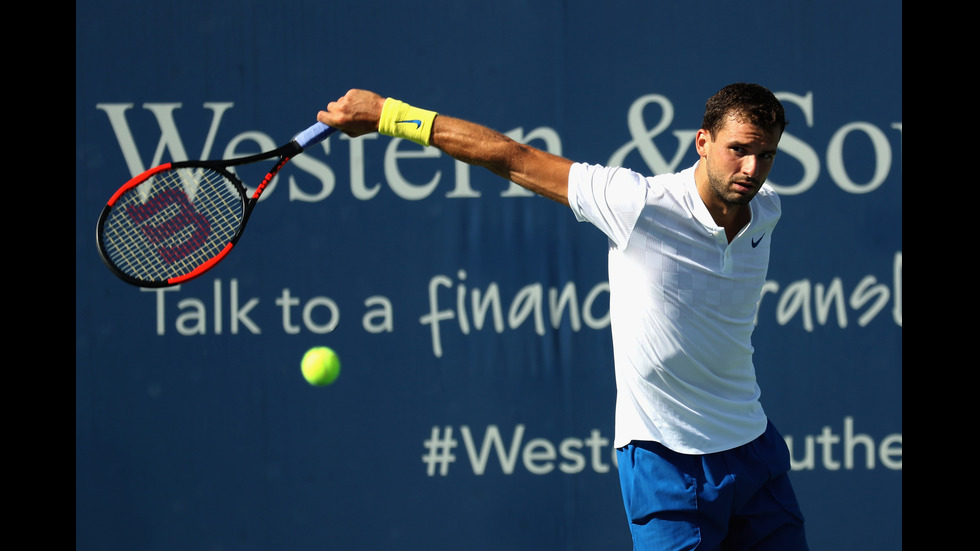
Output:
M711 206L746 205L769 177L781 134L729 117L715 135L699 130L696 144L705 164L707 188L699 189Z

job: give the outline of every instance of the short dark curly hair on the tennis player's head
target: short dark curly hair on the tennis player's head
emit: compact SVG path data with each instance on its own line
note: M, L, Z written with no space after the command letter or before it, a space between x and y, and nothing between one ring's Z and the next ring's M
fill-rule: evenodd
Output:
M730 116L758 126L764 132L782 134L786 129L783 105L772 92L758 84L729 84L708 98L701 128L717 135Z

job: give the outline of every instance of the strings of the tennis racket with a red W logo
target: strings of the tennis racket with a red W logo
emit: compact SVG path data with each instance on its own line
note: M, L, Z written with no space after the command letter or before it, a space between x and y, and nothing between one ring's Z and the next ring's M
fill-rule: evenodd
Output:
M217 257L244 215L242 192L221 172L170 169L117 199L102 241L109 260L126 275L166 281Z

